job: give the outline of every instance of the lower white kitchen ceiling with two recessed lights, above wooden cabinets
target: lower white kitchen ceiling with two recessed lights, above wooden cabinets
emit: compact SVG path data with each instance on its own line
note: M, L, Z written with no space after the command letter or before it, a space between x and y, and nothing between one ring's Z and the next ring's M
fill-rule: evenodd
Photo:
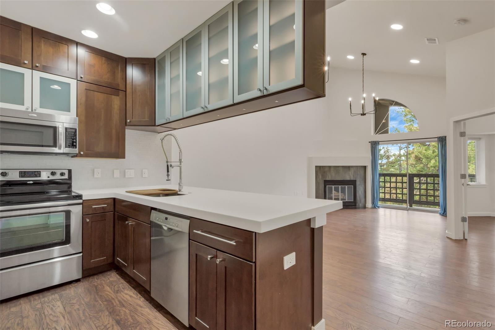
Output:
M230 1L104 1L114 15L101 13L98 2L1 0L0 15L125 57L156 57Z

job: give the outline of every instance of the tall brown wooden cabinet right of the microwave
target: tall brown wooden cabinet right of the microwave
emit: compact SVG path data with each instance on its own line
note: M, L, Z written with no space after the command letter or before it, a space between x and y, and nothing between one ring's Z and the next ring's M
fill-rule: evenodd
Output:
M77 85L79 157L125 158L125 92Z

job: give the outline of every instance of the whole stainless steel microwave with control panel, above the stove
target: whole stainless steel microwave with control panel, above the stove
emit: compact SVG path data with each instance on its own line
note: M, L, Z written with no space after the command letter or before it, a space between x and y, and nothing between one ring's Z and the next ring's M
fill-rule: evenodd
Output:
M0 153L76 156L77 149L77 117L1 109Z

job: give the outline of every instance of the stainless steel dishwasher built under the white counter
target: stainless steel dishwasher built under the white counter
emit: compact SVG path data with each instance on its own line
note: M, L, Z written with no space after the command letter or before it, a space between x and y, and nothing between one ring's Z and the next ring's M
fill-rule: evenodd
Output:
M151 297L189 327L189 218L151 211Z

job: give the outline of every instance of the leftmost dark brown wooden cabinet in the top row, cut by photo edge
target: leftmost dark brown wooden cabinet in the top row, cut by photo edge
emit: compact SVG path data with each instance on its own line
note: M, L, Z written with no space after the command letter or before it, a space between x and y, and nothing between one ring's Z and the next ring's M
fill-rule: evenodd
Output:
M0 62L31 68L31 26L0 16Z

